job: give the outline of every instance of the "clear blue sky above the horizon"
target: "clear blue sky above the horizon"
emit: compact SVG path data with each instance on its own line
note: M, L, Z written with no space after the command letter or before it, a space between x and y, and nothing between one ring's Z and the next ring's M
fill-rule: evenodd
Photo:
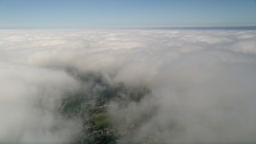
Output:
M256 26L255 0L0 0L2 28Z

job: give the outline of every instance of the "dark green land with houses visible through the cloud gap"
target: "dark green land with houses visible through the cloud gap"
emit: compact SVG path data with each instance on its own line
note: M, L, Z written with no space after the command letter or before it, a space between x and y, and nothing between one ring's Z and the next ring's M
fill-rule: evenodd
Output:
M81 118L83 121L83 128L74 141L117 143L119 138L130 138L140 122L126 123L110 115L110 102L116 102L120 109L125 110L130 102L140 102L146 95L150 95L150 90L146 86L126 86L122 82L110 84L101 74L78 75L75 71L69 73L86 87L76 94L67 94L59 108L65 118ZM123 128L126 129L125 133Z

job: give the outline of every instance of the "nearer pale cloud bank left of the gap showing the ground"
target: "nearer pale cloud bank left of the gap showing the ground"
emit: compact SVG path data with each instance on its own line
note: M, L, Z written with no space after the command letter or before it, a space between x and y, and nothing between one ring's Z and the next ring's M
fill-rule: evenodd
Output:
M77 90L78 82L62 71L11 62L0 66L1 141L68 142L78 123L54 112L62 95Z

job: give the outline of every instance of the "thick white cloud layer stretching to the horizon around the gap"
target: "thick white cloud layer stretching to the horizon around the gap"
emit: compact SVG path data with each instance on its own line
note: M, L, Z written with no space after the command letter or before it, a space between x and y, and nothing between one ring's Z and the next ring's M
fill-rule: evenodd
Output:
M63 95L82 89L70 69L150 89L140 102L109 106L115 118L141 122L135 141L256 141L256 31L1 30L0 51L1 141L78 133L79 119L57 112Z

